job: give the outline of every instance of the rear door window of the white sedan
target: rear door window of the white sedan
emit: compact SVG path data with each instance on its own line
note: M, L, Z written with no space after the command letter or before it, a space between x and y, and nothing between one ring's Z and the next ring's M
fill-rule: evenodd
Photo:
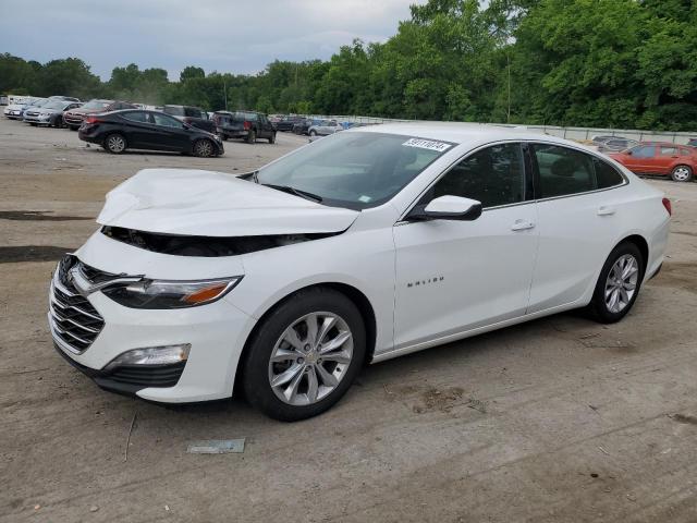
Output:
M558 145L535 145L535 158L540 173L539 198L594 191L592 157L579 150Z

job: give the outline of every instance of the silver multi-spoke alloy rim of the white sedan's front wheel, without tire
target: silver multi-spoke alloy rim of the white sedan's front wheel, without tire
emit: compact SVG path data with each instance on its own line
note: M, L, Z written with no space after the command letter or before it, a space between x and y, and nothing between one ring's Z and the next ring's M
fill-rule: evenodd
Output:
M291 324L269 358L269 384L290 405L311 405L337 389L353 357L353 335L339 315L307 314Z

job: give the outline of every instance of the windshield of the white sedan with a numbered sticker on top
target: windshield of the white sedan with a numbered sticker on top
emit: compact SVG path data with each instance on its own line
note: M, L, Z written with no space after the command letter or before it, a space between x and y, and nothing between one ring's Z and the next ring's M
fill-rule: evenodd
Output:
M257 181L359 210L391 199L453 145L387 133L338 133L264 167Z

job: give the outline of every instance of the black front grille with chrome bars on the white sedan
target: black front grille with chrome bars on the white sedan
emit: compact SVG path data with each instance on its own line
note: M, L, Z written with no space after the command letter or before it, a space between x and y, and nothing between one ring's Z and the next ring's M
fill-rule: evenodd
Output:
M58 282L51 292L53 333L76 352L85 351L105 326L103 318L68 279L68 271L78 263L65 256L58 266Z

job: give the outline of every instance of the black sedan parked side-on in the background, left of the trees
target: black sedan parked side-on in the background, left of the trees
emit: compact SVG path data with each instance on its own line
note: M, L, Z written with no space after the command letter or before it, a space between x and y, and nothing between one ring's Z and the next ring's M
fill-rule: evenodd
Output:
M88 114L77 136L114 155L126 149L171 150L200 157L224 153L215 134L159 111L126 109Z

